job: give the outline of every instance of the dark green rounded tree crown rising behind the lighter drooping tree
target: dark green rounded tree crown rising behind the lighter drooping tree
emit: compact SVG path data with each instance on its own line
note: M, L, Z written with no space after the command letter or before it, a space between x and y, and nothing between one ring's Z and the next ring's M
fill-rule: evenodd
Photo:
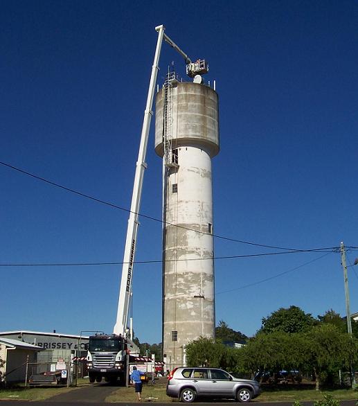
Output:
M274 331L283 331L285 333L300 333L310 330L318 321L305 313L297 306L289 308L280 308L272 312L269 317L262 318L262 327L260 333L273 333Z

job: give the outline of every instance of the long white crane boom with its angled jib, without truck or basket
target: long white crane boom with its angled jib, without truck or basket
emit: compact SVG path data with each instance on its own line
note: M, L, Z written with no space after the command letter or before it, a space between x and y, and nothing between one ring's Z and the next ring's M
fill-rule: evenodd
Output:
M117 319L114 326L114 334L126 335L127 333L127 317L129 310L129 299L132 292L132 276L133 276L133 263L136 251L136 234L138 231L138 213L141 206L141 194L143 186L144 170L147 167L145 164L145 155L147 152L147 141L150 130L150 121L152 119L152 106L154 100L154 92L156 85L156 78L159 71L159 56L161 53L161 44L163 39L168 42L180 55L184 58L186 63L190 63L188 55L181 51L179 46L172 42L172 40L164 34L164 26L157 26L155 30L158 33L158 40L156 42L156 49L154 54L154 62L152 66L152 74L150 76L150 84L147 95L147 104L145 106L143 126L141 132L141 143L139 145L138 160L136 162L136 173L134 175L134 185L132 194L132 204L129 213L127 237L125 240L125 252L123 255L122 278L120 281L120 291L118 299ZM132 337L131 337L132 339Z

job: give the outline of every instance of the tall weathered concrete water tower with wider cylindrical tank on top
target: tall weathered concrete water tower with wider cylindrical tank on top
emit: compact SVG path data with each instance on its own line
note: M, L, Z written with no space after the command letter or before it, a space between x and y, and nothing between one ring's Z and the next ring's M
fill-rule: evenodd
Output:
M156 95L155 150L163 158L163 355L186 364L185 346L215 337L211 158L220 150L218 97L197 73L168 73Z

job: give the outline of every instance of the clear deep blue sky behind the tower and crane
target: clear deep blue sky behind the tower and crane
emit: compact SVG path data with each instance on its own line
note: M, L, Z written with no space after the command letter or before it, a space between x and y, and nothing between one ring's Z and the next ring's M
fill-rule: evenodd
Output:
M217 80L215 233L297 249L358 246L357 1L1 6L0 161L129 209L154 27L164 24L188 55L209 61L207 80ZM184 75L164 44L159 83L172 61ZM161 218L153 132L147 164L141 213ZM0 182L1 264L123 260L125 211L3 165ZM215 239L217 257L274 251ZM253 335L280 307L345 315L340 255L321 256L217 259L217 322ZM357 256L348 251L350 263ZM160 259L161 224L142 218L136 260ZM111 333L120 265L0 272L0 330ZM358 267L348 272L357 312ZM141 342L161 341L160 263L134 267L134 329Z

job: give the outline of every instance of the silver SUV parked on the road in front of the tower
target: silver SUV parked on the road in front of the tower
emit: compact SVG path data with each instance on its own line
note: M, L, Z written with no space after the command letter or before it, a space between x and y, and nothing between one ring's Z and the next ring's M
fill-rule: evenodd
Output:
M256 380L234 378L222 369L180 367L170 372L166 392L185 403L198 396L249 402L260 394L260 385Z

